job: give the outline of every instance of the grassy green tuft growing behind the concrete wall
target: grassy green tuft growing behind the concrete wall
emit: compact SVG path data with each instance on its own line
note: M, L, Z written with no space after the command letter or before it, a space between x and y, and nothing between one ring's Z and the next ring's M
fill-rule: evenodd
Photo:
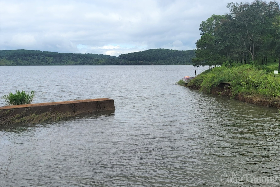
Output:
M25 91L16 90L16 93L12 92L9 95L3 95L2 99L5 99L6 105L19 105L19 104L30 104L34 98L34 90L31 90L30 93Z

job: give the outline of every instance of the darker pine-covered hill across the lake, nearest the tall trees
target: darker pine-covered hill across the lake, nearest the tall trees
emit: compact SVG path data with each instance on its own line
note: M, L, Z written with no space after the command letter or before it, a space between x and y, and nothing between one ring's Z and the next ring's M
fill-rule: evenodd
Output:
M195 58L195 50L150 49L119 55L119 59L128 65L135 62L153 65L189 65L192 64L192 58Z

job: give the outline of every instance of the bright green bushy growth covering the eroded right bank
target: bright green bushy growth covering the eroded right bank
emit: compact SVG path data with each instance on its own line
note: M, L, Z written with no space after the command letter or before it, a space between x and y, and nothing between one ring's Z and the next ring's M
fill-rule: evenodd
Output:
M222 65L204 71L188 84L203 93L211 93L211 89L220 83L231 83L231 97L238 95L280 101L280 75L275 77L273 71L267 71L260 66Z

